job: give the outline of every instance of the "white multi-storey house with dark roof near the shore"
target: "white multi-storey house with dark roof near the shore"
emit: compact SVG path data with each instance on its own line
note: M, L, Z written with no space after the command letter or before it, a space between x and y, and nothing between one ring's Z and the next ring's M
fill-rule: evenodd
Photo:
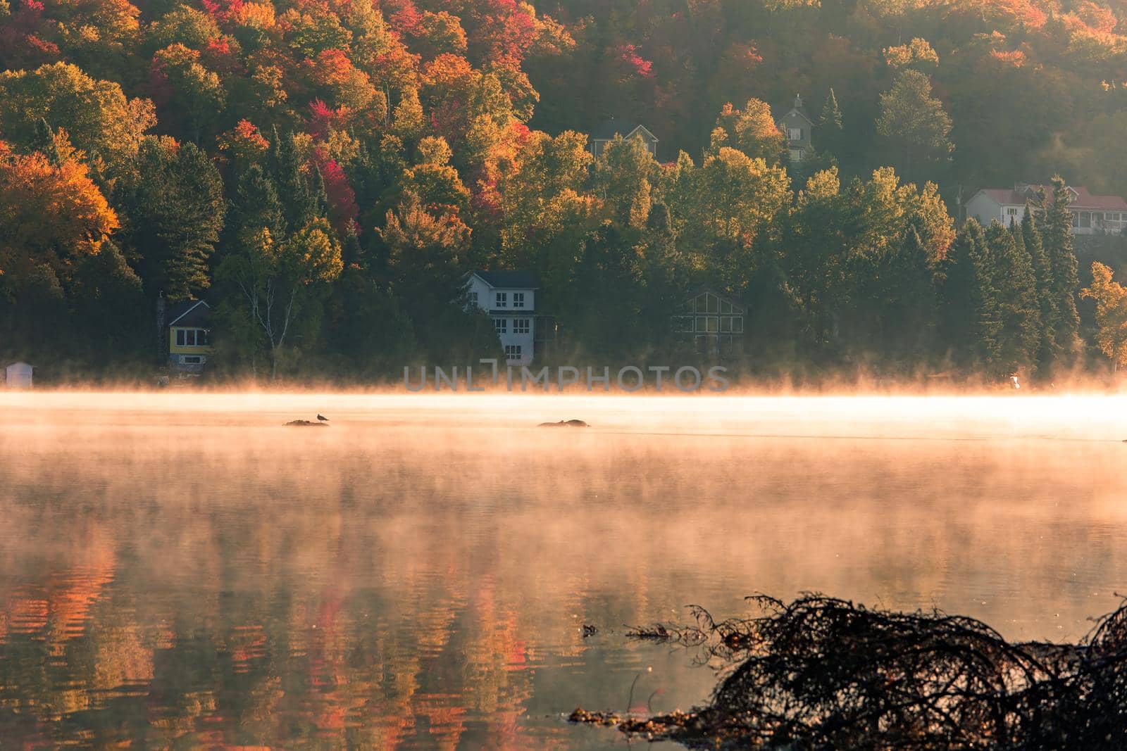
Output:
M492 319L509 365L532 363L539 288L536 276L531 271L474 271L467 281L469 304Z

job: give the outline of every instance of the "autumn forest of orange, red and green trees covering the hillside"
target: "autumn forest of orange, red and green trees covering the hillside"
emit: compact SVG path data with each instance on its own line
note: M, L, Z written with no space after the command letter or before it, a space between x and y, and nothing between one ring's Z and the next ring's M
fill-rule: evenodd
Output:
M48 379L154 370L158 299L216 377L464 363L506 268L575 365L691 360L700 285L753 375L1127 363L1127 250L1065 206L1127 195L1112 0L0 0L0 359ZM593 158L610 117L656 158Z

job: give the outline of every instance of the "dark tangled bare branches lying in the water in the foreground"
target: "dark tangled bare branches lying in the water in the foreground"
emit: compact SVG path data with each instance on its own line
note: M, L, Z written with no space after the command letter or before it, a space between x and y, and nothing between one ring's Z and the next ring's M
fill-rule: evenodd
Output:
M940 611L890 613L820 594L633 638L700 646L731 667L692 712L575 722L690 748L1127 748L1127 600L1080 644L1010 643Z

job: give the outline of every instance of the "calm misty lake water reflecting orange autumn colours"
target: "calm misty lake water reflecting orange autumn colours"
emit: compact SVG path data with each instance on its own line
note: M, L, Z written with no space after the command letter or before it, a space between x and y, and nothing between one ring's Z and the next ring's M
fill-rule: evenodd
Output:
M535 427L569 418L592 427ZM564 717L716 682L623 625L754 592L1076 640L1127 592L1125 418L1108 396L0 392L0 748L622 746Z

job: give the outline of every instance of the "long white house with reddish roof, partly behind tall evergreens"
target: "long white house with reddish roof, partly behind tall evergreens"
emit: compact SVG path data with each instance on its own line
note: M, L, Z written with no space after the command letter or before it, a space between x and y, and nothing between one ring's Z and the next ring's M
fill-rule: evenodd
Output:
M1037 191L1053 202L1053 186L1019 182L1013 189L984 188L967 202L967 218L978 220L990 226L995 220L1004 226L1020 224L1026 216L1026 204L1037 199ZM1127 202L1119 196L1093 196L1084 187L1067 186L1068 211L1072 212L1073 234L1119 234L1127 225Z

